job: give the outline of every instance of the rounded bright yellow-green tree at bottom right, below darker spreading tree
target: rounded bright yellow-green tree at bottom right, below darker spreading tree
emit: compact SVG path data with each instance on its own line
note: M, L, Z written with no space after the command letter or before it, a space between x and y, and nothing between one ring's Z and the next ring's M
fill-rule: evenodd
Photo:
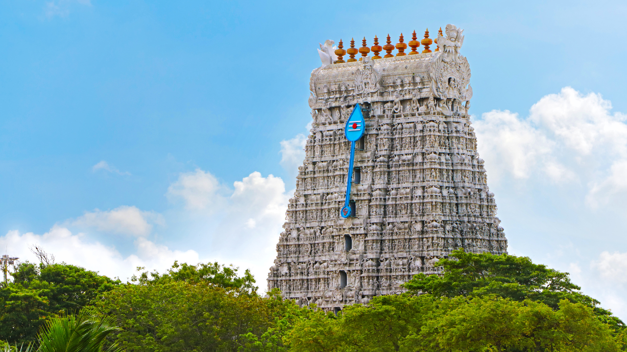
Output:
M419 333L404 339L401 351L620 350L608 324L581 303L564 299L554 310L498 297L450 300L460 304L426 321Z

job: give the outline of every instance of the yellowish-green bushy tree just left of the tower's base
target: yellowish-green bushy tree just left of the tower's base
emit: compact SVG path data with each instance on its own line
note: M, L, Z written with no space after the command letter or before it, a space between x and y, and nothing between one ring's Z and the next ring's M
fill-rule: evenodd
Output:
M261 298L249 272L209 265L175 263L107 292L98 308L124 328L115 341L128 351L282 350L293 301Z

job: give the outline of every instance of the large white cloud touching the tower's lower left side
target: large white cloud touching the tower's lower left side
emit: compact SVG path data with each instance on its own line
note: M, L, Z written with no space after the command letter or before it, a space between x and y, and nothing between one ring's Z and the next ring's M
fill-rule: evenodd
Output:
M190 178L200 180L182 181ZM196 191L198 184L209 184L208 180L211 180L211 187L203 189L211 191ZM199 244L206 248L204 254L211 260L251 269L263 289L285 222L288 194L293 193L285 192L283 180L253 172L229 188L219 185L211 173L196 170L181 174L171 189L176 189L178 198L193 194L192 204L213 204L219 197L219 207L190 208L189 202L186 202L183 210L171 212L169 216L183 222L181 226L187 227L186 232L192 237L201 239ZM221 190L219 195L218 189ZM189 211L192 209L194 211Z

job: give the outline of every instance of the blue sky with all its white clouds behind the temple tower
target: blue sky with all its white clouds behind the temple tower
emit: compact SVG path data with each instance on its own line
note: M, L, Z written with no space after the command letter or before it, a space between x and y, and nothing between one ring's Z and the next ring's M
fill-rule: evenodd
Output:
M626 15L611 1L0 1L0 245L122 278L233 262L263 288L318 43L452 23L510 252L627 318Z

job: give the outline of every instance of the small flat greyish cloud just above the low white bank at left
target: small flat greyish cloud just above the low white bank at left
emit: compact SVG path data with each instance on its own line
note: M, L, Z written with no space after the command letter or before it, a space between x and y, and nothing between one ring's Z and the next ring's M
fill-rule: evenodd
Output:
M81 217L70 220L69 224L113 234L148 236L153 224L164 225L165 220L161 214L123 205L113 210L85 212Z

